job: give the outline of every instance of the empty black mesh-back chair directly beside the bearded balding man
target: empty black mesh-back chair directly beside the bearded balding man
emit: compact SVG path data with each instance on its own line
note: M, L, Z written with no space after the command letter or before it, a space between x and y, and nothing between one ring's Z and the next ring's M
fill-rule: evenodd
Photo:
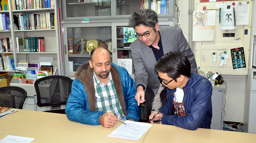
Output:
M65 109L61 109L61 105L66 105L68 95L71 93L71 78L50 75L37 79L34 86L37 94L34 95L35 110L37 110L36 105L38 105L39 107L47 107L44 112L65 114Z

